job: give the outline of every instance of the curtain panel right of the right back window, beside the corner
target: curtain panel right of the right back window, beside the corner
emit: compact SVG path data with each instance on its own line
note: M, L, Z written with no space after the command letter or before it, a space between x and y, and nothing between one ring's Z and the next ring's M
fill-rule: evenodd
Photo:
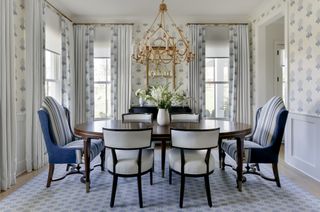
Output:
M230 119L251 123L250 49L247 25L232 25L230 36Z

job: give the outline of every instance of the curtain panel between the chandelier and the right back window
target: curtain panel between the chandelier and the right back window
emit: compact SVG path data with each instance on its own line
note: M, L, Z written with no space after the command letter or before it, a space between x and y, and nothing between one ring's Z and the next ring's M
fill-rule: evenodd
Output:
M205 116L205 27L189 25L189 39L194 60L189 63L189 96L192 112Z

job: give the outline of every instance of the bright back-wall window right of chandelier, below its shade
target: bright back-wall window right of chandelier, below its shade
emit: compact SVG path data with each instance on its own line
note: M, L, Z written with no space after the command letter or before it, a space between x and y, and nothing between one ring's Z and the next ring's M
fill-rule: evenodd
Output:
M206 58L206 117L229 117L229 58Z

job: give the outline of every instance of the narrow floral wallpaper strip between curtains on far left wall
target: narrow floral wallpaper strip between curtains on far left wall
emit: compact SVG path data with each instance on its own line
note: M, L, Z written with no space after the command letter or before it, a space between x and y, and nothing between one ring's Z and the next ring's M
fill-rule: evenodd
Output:
M25 59L26 59L26 41L25 41L25 5L24 0L14 0L14 42L15 42L15 72L16 72L16 101L17 113L24 113L25 104Z

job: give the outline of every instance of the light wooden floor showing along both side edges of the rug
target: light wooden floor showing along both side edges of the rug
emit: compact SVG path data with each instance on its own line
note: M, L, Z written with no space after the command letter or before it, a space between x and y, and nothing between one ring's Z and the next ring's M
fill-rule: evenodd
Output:
M0 201L5 198L6 196L10 195L12 192L20 188L22 185L27 183L33 177L37 176L42 171L47 170L48 167L45 166L37 171L33 171L30 173L22 174L17 178L17 183L11 189L5 192L0 193ZM320 198L320 182L310 178L309 176L303 174L302 172L290 167L284 162L284 147L281 147L280 150L280 157L279 157L279 172L280 176L286 176L304 190L309 191L310 193L314 194L315 196ZM45 185L44 185L45 186Z

